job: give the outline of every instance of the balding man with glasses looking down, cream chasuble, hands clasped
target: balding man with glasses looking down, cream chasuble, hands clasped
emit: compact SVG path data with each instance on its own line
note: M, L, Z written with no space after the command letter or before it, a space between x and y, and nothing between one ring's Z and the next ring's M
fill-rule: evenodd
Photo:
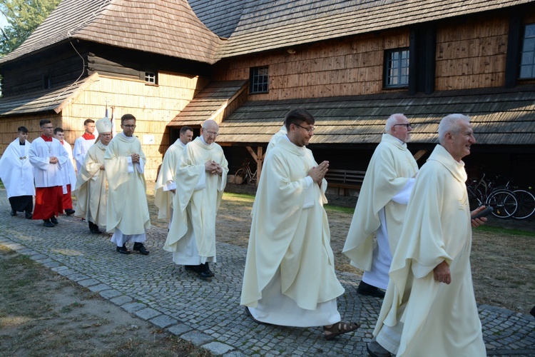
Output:
M173 252L173 261L200 278L214 276L208 263L215 263L215 215L227 183L228 162L215 143L219 126L203 122L200 136L185 146L175 175L173 221L163 248Z

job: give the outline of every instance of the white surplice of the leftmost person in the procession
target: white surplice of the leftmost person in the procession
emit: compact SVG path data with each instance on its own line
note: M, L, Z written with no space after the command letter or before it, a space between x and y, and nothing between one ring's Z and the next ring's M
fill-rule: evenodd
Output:
M0 158L0 178L6 186L7 198L35 196L34 170L29 159L30 145L28 140L21 145L17 138Z

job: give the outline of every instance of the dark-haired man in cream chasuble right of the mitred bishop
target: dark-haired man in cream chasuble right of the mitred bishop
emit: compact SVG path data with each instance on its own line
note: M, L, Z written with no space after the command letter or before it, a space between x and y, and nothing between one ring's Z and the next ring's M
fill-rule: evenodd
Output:
M145 182L146 158L141 142L133 135L136 117L121 116L123 132L111 139L104 153L104 171L108 180L108 202L106 207L106 231L113 233L111 241L117 251L131 253L126 243L133 242L133 250L143 255L146 230L151 228L148 214L147 186Z

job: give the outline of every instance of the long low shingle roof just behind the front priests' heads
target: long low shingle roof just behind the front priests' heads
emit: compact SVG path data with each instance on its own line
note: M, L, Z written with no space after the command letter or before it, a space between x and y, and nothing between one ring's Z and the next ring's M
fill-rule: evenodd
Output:
M516 89L518 90L518 89ZM343 96L285 101L249 101L220 124L220 143L266 144L290 109L315 117L310 144L377 144L388 116L402 113L414 124L411 141L437 142L438 123L447 114L472 118L478 144L535 144L535 85L521 91L479 89Z

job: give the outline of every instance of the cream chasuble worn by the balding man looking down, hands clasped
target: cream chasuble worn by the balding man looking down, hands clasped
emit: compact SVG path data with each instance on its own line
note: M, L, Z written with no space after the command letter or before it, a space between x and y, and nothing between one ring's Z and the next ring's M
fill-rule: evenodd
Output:
M223 174L207 173L208 161L217 162ZM215 261L215 215L223 197L227 173L228 162L218 144L205 144L199 136L185 146L175 174L173 219L163 246L166 251L178 253L180 241L189 238L195 243L188 254L190 258L196 259L193 256L196 255L200 263ZM183 244L182 248L185 246L190 244Z

